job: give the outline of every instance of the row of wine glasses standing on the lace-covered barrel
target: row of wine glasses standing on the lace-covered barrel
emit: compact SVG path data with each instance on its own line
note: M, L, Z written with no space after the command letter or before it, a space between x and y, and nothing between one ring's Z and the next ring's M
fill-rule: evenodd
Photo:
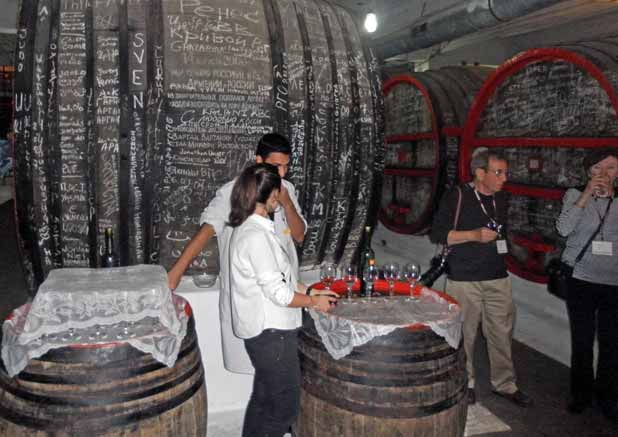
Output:
M399 264L395 262L387 263L382 267L384 279L388 281L388 294L394 295L395 282L402 281L412 286L413 283L418 281L421 276L421 269L417 263L408 263L400 268ZM320 280L326 286L330 288L331 284L337 278L337 266L334 264L324 264L320 269ZM343 279L347 287L347 297L352 297L352 287L358 279L358 272L355 265L345 265L341 267L339 271L339 277ZM369 265L362 272L362 277L367 284L367 289L373 291L373 284L380 277L380 270L375 265Z

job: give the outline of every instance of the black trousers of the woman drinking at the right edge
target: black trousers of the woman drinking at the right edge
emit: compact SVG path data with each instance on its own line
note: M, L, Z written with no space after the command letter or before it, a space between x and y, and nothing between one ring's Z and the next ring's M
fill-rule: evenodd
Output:
M618 287L571 278L567 296L571 326L571 395L590 401L596 392L602 408L618 402ZM596 379L595 332L599 341Z

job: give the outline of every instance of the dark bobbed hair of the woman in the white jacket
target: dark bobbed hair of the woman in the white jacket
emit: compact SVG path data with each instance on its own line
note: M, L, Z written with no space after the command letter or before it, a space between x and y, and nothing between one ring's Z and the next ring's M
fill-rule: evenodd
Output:
M281 188L277 167L271 164L254 164L245 168L232 188L232 210L228 224L240 226L255 211L257 203L266 203L273 190Z

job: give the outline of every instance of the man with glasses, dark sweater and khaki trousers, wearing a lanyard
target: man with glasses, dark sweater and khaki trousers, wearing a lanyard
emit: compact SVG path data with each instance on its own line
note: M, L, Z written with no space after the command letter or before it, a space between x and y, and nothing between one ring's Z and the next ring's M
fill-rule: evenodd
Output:
M508 178L504 156L487 148L472 154L473 181L447 193L434 217L430 239L448 244L446 292L460 304L467 356L468 403L476 402L474 343L479 324L487 339L493 393L527 407L532 399L516 383L511 357L515 307L504 255L508 252L507 203L502 187ZM455 215L461 193L461 212Z

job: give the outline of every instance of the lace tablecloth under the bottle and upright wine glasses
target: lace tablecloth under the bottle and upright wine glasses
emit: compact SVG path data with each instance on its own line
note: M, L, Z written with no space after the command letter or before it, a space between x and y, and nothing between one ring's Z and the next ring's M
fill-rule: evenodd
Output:
M326 350L336 360L374 337L417 324L429 327L456 349L463 321L459 305L428 288L422 288L414 298L340 299L330 313L310 310L309 314Z

